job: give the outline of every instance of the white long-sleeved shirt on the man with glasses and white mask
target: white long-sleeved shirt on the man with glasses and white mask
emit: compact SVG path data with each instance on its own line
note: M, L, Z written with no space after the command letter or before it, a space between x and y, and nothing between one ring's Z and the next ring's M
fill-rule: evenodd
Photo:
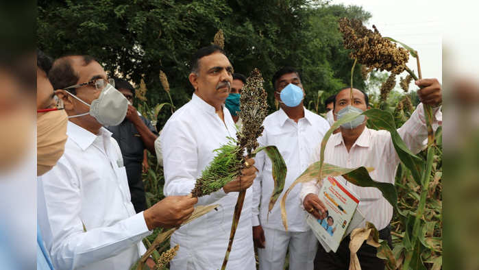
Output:
M130 269L151 234L135 213L111 132L68 123L65 151L38 177L38 223L56 269ZM84 232L84 229L86 232Z

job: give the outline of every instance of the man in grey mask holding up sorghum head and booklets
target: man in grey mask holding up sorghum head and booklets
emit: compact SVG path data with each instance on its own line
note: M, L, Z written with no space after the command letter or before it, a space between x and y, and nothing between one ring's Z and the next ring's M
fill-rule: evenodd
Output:
M417 91L422 103L419 103L410 119L397 130L404 143L415 154L426 147L426 138L428 137L423 104L433 107L432 125L434 130L442 123L442 114L439 110L442 101L441 85L437 79L421 79L416 82L416 85L423 86L421 90ZM354 103L351 106L349 91L350 88L345 88L336 95L334 101L336 120L345 115L348 110L360 112L369 108L367 95L358 89L354 89ZM375 170L369 173L373 180L394 184L400 158L394 149L391 134L386 130L369 130L366 127L366 118L363 116L358 116L353 121L341 125L340 129L341 133L334 134L328 140L324 152L324 162L346 168L373 167ZM387 240L391 245L389 223L393 217L393 206L382 197L377 188L363 188L347 183L345 180L342 181L360 197L358 209L365 215L366 221L373 223L379 230L380 238ZM315 217L323 219L326 208L317 196L319 188L315 182L304 183L301 198L305 210ZM349 236L341 241L336 253L327 253L319 245L315 258L315 269L348 269L348 245ZM360 247L357 254L362 269L384 269L384 261L376 257L376 251L376 247L367 244Z

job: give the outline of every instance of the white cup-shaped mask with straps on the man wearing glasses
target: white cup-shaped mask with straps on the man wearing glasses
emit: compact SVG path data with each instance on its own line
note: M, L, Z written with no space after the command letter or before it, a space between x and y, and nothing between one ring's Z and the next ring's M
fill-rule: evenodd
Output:
M66 91L69 93L69 91ZM90 107L90 112L69 116L69 118L90 114L97 119L98 123L104 126L119 125L125 119L128 110L128 100L116 90L111 84L107 84L101 90L100 96L93 100L91 105L69 93L72 97Z

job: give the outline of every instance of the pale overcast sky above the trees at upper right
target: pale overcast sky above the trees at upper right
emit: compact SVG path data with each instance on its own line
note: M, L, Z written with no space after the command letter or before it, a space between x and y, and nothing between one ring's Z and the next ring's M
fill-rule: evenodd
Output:
M389 36L417 50L423 78L436 77L442 82L442 10L439 1L333 0L332 3L363 6L372 15L367 25L369 29L376 25L382 36ZM417 74L415 58L410 57L408 66Z

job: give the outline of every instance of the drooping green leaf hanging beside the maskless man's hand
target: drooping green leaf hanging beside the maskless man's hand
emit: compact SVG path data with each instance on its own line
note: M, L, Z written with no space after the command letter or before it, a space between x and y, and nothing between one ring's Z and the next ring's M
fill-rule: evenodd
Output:
M273 209L274 204L280 197L284 188L284 181L286 180L286 163L284 162L283 157L278 151L278 148L274 145L269 145L265 147L259 147L254 151L254 154L259 151L265 150L266 154L269 156L271 163L273 164L273 180L274 180L274 189L273 194L271 194L271 199L269 199L269 211Z

